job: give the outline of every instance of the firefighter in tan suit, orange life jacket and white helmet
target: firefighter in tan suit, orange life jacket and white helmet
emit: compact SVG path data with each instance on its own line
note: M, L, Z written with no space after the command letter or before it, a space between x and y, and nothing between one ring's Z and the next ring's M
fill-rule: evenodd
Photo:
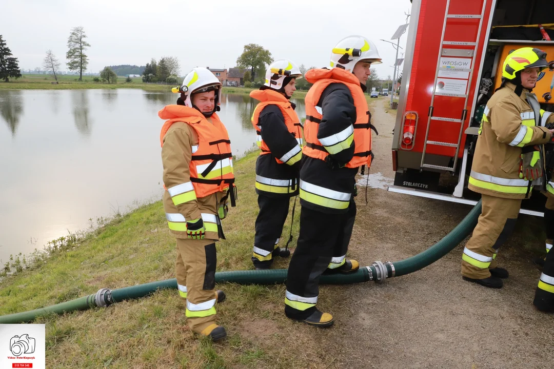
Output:
M193 332L217 341L227 336L216 324L216 241L224 238L220 220L227 200L234 206L233 159L229 135L219 111L222 85L211 71L194 68L182 86L177 105L158 116L167 119L160 133L162 145L163 208L177 238L178 292Z

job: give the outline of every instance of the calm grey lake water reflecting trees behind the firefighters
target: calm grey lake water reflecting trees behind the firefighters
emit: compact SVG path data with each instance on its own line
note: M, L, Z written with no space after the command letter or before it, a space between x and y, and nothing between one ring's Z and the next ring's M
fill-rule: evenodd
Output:
M0 260L161 199L157 112L176 98L139 89L0 90ZM304 116L304 101L293 101ZM218 115L234 155L255 144L255 106L246 94L222 96Z

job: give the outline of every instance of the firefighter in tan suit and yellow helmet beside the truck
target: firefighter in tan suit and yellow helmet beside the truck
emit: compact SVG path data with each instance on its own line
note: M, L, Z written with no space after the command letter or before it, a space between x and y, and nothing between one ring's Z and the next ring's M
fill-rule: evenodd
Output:
M539 49L510 53L504 61L502 85L483 113L469 178L469 189L481 194L483 211L461 262L461 274L469 282L502 287L502 278L509 273L497 266L496 256L514 230L521 200L529 198L533 186L554 195L546 178L543 148L552 139L554 130L546 124L554 115L542 110L531 92L547 65L546 53ZM545 273L546 265L538 287L546 286L550 289L546 293L554 297L554 263L550 276Z

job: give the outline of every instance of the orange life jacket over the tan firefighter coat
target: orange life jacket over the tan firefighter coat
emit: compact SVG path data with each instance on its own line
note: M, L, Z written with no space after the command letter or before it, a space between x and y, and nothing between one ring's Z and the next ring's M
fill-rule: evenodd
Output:
M189 164L190 177L197 198L203 198L223 191L234 183L233 154L229 134L216 113L212 123L194 108L182 105L168 105L158 112L162 119L171 117L163 123L160 132L160 144L171 124L184 122L198 134L198 145L192 147L192 159ZM233 200L234 196L231 196Z

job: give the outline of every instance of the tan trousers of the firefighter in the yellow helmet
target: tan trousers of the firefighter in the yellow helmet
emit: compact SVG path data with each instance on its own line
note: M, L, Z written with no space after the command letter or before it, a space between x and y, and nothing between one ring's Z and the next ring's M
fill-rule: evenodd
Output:
M479 222L465 245L461 275L468 278L490 277L489 269L496 268L496 254L502 243L514 231L521 199L502 199L482 195Z

